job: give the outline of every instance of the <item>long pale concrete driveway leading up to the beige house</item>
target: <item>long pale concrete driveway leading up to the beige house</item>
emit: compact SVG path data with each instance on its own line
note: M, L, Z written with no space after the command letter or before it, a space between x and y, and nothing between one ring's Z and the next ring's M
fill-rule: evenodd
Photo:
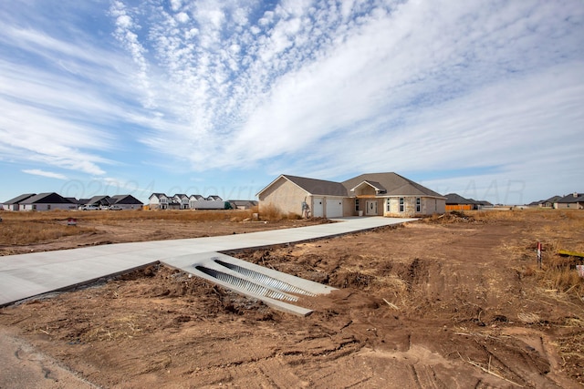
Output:
M343 218L336 223L174 241L119 243L0 257L0 306L186 254L310 241L415 219Z

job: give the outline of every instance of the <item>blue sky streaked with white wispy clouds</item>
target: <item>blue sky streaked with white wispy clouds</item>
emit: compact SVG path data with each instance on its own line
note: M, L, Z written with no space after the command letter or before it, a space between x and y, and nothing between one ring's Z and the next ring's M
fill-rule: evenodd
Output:
M0 3L0 201L395 171L584 191L584 2Z

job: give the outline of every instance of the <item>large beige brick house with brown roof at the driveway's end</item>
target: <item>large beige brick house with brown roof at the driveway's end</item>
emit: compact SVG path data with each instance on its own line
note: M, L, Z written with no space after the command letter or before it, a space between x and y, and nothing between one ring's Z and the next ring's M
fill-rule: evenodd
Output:
M282 174L257 193L259 209L273 206L303 217L415 217L444 213L443 195L396 173L361 174L342 182Z

